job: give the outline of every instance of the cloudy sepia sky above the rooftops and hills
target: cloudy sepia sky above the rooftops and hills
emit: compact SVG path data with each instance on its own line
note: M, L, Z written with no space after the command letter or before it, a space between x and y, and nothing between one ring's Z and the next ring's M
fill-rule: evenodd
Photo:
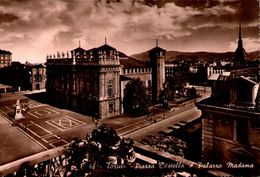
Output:
M131 55L159 45L177 51L258 50L257 0L0 0L0 48L13 60L107 43Z

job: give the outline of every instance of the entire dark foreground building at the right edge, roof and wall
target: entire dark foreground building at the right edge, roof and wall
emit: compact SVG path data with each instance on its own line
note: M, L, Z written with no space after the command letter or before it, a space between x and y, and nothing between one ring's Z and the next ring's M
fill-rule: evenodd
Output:
M212 96L197 104L202 111L203 161L221 163L229 171L239 165L239 175L242 171L256 174L260 165L259 80L240 74L221 74Z

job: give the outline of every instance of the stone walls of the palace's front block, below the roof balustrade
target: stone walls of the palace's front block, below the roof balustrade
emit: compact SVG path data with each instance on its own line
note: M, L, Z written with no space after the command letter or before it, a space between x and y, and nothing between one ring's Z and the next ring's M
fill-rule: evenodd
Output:
M100 118L119 114L119 71L102 71L90 67L48 68L47 92L54 102ZM113 81L113 95L108 95L108 81ZM109 110L113 104L113 110Z

